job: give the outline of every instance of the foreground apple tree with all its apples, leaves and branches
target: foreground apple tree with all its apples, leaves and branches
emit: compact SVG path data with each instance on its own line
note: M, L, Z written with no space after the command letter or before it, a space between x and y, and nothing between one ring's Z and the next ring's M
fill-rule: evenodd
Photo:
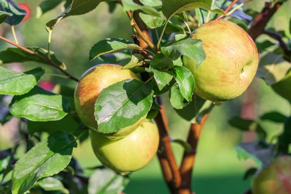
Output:
M53 29L68 16L94 11L101 1L111 10L123 6L132 40L116 37L92 43L89 60L104 63L76 78L50 50ZM0 39L15 46L0 52L1 64L39 64L26 72L0 66L1 98L13 96L11 102L1 102L1 125L18 117L27 145L20 159L15 157L18 144L0 151L0 193L119 194L130 173L157 154L169 193L191 194L196 147L213 108L242 95L255 76L291 100L291 20L284 31L267 27L275 12L290 2L269 0L259 13L238 0L44 0L35 10L38 18L59 4L65 11L44 25L48 47L37 48L19 45L15 33L15 26L29 20L33 10L25 3L0 0L0 23L11 25L14 41ZM260 34L272 41L256 41ZM116 57L125 51L131 54ZM120 65L122 60L129 62ZM76 88L38 83L45 74L43 65L76 81ZM187 142L169 136L164 93L177 113L192 123ZM266 120L285 126L272 142L260 125ZM258 134L256 142L236 147L239 157L258 164L245 174L254 175L246 193L291 194L291 117L271 112L259 120L233 117L228 122ZM44 132L49 136L44 138ZM90 177L72 157L73 148L87 138L104 165ZM171 142L184 147L180 166Z

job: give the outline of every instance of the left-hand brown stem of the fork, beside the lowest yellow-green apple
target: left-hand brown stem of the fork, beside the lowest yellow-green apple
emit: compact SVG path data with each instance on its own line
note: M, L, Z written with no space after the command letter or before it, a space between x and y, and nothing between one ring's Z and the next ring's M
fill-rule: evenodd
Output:
M162 154L159 153L158 157L162 166L163 176L169 186L169 189L171 190L171 193L175 193L175 190L180 187L181 175L178 164L174 157L170 137L168 135L169 127L167 117L165 114L165 109L164 106L162 105L162 99L161 97L157 98L162 109L158 113L155 120L159 128L161 138L160 144L162 143L162 145L160 145L160 148L162 149L163 152Z

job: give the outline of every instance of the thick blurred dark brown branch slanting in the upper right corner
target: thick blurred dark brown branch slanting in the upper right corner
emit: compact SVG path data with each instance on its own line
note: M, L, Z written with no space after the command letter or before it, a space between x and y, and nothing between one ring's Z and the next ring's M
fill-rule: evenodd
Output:
M280 3L276 3L273 7L271 7L270 3L265 3L264 9L261 13L258 14L258 16L256 16L252 26L248 30L249 35L254 41L264 31L264 28L267 25L268 21L280 8L280 6Z

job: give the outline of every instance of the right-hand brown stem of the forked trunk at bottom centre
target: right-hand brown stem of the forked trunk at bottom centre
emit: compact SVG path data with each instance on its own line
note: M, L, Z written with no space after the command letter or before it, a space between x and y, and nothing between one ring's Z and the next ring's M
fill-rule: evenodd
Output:
M192 170L196 158L196 149L198 140L200 138L201 131L203 129L203 126L205 122L207 121L207 118L209 116L209 113L205 114L201 120L201 124L193 123L190 127L188 140L187 142L192 146L192 152L184 152L183 160L181 163L180 173L182 177L182 184L179 188L178 194L191 194L192 188Z

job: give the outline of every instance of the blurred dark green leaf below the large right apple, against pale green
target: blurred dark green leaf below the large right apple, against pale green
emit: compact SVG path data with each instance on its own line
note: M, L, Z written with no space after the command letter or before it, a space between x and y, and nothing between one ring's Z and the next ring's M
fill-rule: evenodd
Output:
M232 127L241 129L243 131L249 130L249 131L255 131L258 133L260 139L264 139L267 136L267 133L264 129L261 128L259 123L255 120L246 120L242 119L238 116L235 116L231 118L228 121L229 125Z

